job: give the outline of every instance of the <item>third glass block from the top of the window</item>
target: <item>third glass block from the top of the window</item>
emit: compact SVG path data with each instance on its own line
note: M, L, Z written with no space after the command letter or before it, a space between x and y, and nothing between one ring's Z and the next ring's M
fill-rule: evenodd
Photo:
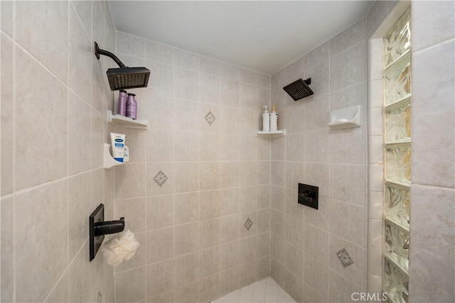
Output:
M411 99L405 99L385 109L385 142L411 140Z

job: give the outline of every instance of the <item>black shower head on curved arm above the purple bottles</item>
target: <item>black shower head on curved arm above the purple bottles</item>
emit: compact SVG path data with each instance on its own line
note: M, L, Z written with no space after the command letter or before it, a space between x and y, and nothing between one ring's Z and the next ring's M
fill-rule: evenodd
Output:
M119 68L109 68L106 72L107 80L111 90L119 89L134 89L139 87L147 87L149 83L150 70L145 67L126 67L122 61L113 53L107 50L102 50L95 42L95 55L100 60L100 55L105 55L112 58Z

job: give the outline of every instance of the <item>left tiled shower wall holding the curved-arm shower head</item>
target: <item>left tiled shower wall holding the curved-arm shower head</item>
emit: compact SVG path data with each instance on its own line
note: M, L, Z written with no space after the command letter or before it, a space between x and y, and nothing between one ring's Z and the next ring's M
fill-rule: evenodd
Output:
M89 263L88 216L112 219L105 1L1 1L1 302L114 300L114 270Z

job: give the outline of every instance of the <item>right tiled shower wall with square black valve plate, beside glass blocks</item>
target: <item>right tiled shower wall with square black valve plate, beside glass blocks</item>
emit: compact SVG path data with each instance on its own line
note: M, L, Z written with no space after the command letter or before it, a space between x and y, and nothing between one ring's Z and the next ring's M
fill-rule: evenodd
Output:
M311 97L294 101L282 89L310 77ZM272 139L271 275L298 302L350 302L366 289L365 79L364 20L272 75L287 136ZM328 128L331 111L355 105L360 127ZM299 182L319 187L318 210L297 204Z

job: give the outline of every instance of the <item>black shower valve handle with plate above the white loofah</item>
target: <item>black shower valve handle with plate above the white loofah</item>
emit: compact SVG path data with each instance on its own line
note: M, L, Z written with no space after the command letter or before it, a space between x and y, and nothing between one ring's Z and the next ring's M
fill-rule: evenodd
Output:
M105 235L121 233L124 228L124 217L116 221L105 221L105 206L103 204L98 205L89 217L90 261L95 259Z

